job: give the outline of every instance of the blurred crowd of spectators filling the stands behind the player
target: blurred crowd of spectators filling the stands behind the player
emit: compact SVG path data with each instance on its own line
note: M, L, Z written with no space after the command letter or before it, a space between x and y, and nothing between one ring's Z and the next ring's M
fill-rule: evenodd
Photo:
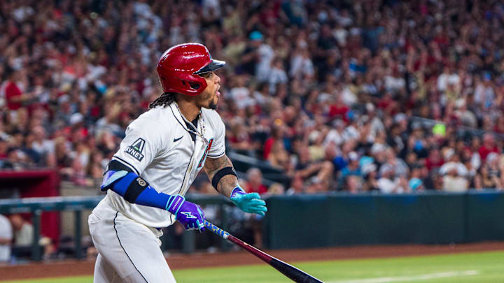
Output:
M0 168L101 182L162 52L200 42L228 150L288 176L248 191L503 186L502 1L172 2L1 1Z

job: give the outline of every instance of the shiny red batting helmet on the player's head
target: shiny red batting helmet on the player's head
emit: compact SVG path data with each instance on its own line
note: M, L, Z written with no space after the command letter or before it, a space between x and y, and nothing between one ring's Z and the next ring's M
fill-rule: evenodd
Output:
M224 65L225 61L212 59L204 45L183 43L163 53L157 71L163 92L197 96L207 87L207 81L200 74L215 71Z

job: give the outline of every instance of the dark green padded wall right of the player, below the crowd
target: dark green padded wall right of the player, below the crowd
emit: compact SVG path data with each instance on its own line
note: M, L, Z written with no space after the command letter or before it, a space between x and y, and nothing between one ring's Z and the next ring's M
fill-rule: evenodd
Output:
M504 194L299 195L267 200L270 249L504 240Z

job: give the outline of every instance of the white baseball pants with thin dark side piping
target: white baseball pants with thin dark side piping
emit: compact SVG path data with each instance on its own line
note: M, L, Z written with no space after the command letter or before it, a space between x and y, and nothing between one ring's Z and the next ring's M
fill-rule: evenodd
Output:
M149 228L104 201L87 219L94 247L94 283L167 283L175 278L163 256L161 231Z

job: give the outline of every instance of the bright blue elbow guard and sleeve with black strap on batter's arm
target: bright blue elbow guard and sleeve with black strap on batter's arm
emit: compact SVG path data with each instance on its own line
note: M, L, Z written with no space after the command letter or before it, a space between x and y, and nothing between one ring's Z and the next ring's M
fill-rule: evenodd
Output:
M130 203L163 210L165 210L168 201L174 197L156 191L142 177L132 172L128 173L125 170L107 171L100 188L102 191L111 189Z

